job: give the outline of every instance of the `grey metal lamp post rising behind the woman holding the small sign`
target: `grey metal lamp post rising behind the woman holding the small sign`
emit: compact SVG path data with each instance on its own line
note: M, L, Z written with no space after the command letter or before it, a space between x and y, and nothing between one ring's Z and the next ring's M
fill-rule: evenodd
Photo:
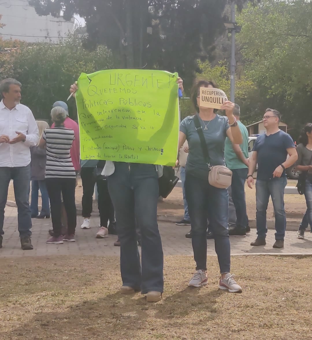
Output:
M231 22L225 22L224 26L227 30L231 32L231 61L230 61L230 101L232 103L235 102L235 69L236 69L236 60L235 60L235 33L239 33L241 31L241 26L237 25L235 21L235 2L231 2Z

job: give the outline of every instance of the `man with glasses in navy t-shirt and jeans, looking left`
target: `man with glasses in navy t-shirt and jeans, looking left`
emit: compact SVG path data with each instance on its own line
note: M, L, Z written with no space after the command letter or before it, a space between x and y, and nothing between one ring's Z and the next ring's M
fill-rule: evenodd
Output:
M266 133L260 135L254 145L249 161L247 185L254 184L253 173L258 163L256 181L257 239L250 245L265 245L266 209L271 195L275 211L275 243L273 248L284 247L286 214L284 209L284 189L287 184L285 169L298 159L295 144L289 134L279 129L281 115L267 108L263 117ZM287 158L289 155L289 158Z

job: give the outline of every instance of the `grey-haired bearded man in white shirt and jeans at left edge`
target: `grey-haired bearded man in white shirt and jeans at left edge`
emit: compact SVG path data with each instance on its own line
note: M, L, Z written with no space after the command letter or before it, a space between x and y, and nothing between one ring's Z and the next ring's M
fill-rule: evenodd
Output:
M31 110L20 104L22 84L13 78L0 82L0 248L2 248L4 208L13 180L18 231L23 250L31 244L30 147L37 145L38 126Z

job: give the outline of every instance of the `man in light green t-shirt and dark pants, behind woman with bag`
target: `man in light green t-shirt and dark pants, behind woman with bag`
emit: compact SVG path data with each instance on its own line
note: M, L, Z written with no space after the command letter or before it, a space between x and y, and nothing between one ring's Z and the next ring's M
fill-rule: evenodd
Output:
M236 226L229 229L230 236L246 236L248 218L245 200L245 181L248 174L248 131L240 121L240 107L235 104L233 115L236 117L238 127L243 137L241 145L233 144L227 137L225 139L225 164L232 170L231 196L236 210Z

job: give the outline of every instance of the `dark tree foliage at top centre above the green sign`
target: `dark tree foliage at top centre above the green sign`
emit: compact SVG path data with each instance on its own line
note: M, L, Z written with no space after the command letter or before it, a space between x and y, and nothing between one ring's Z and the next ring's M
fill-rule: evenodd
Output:
M256 0L255 0L256 1ZM30 0L40 15L86 20L88 47L104 44L120 67L178 71L191 84L197 59L210 60L224 32L228 0ZM245 0L236 0L242 8ZM152 28L152 34L147 28Z

